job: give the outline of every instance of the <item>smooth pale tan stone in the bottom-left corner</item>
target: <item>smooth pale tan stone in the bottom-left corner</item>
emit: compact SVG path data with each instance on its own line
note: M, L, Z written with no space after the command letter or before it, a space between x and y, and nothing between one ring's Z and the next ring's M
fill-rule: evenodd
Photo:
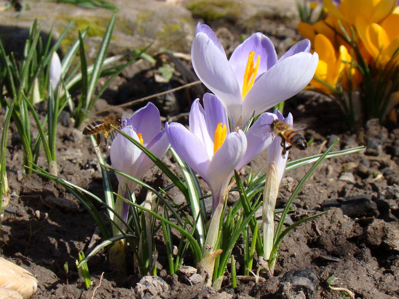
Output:
M0 258L0 287L13 289L25 299L36 293L38 282L29 271L8 260L4 260L4 258ZM0 299L2 298L0 297Z

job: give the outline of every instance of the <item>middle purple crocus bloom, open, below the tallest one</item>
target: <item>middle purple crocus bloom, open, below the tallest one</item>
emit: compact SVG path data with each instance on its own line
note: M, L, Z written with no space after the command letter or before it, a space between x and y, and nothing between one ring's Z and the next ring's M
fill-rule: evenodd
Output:
M176 122L166 123L165 130L172 148L208 184L215 212L219 203L223 203L234 169L241 169L271 144L273 136L265 124L270 124L275 115L261 115L247 134L240 129L230 132L221 101L206 93L203 104L202 108L199 99L192 104L190 130Z

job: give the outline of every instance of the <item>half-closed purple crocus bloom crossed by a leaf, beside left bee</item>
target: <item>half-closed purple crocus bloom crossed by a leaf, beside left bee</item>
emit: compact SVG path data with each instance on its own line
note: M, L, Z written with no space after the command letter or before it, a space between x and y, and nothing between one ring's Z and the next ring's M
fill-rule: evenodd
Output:
M161 157L170 146L166 132L161 130L159 111L151 102L134 112L130 118L125 118L121 131L141 142L157 157ZM136 178L141 178L154 165L145 153L121 134L118 134L112 142L110 158L115 169ZM122 196L126 197L126 183L130 192L134 191L136 183L122 175L116 175Z

